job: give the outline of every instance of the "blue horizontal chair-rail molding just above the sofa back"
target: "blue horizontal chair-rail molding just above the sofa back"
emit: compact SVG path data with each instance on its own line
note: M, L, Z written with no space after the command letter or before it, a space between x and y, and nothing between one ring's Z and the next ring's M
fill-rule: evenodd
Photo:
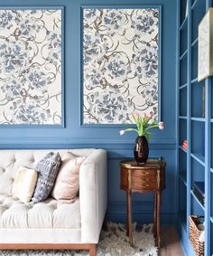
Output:
M82 148L96 147L112 150L132 150L134 139L121 141L103 138L73 137L2 137L0 148ZM175 150L176 140L173 138L153 139L150 149Z

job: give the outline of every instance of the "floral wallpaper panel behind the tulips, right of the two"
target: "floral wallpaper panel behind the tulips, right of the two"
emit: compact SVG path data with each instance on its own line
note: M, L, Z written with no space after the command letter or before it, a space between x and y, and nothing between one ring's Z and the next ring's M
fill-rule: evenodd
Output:
M159 9L83 10L83 123L158 118Z

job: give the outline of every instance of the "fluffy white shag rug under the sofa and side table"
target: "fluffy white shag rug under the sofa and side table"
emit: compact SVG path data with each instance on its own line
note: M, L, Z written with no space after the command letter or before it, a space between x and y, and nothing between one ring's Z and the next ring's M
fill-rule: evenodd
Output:
M124 224L107 223L97 245L97 256L157 256L153 239L153 224L145 224L136 231L134 247L130 247ZM88 251L0 251L0 256L88 256Z

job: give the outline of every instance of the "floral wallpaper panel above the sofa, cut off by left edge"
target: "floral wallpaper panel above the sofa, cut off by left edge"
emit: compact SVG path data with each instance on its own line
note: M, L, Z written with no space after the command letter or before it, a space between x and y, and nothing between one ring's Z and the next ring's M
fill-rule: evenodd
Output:
M0 124L61 124L61 10L0 10Z

